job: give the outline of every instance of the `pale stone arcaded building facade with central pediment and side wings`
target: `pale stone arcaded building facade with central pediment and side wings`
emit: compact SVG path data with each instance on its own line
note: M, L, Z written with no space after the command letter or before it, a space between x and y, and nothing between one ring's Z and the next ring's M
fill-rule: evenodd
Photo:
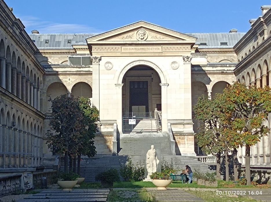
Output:
M75 35L62 35L68 40L56 47L46 45L50 38L41 40L42 34L28 35L21 21L2 0L0 3L2 167L5 162L6 167L38 168L45 165L43 159L46 166L48 159L54 160L46 145L48 96L88 97L100 111L97 153L110 155L116 150L114 136L124 132L123 112L132 111L131 86L142 85L147 104L140 110L154 114L160 108L161 132L168 132L170 123L176 154L195 156L202 154L194 137L199 122L193 105L198 96L211 99L233 81L259 87L271 84L268 7L263 7L263 16L247 33L204 33L227 36L228 42L221 39L216 45L200 38L202 33L184 34L139 21L98 35L78 34L77 41ZM270 119L266 124L270 125ZM270 141L270 135L265 136L252 147L252 164L271 163ZM4 158L5 152L14 154ZM24 153L17 157L16 152ZM239 149L239 154L244 162L244 151Z

